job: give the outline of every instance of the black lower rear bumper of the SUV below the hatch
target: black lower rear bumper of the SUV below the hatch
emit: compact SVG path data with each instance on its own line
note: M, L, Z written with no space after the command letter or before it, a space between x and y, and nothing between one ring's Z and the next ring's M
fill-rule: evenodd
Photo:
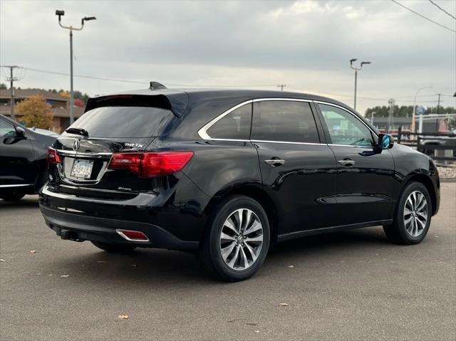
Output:
M170 248L173 250L196 250L197 241L182 241L152 224L138 221L107 219L95 216L84 216L68 211L51 209L40 204L46 224L56 231L58 236L73 241L100 241L102 243L130 243L143 248ZM117 229L141 231L149 241L127 241L117 233Z

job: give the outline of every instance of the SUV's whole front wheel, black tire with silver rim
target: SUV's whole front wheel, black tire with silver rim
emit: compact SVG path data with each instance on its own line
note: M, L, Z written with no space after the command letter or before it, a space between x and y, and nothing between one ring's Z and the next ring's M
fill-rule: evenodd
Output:
M400 195L393 224L383 226L383 231L393 243L418 244L429 230L431 217L432 201L429 192L420 182L410 182Z

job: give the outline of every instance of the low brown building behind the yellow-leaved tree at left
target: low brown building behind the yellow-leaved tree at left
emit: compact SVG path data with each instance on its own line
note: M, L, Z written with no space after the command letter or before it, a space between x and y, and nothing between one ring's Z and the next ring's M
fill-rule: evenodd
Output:
M17 105L21 101L32 95L41 95L48 105L51 105L53 113L53 132L61 133L70 125L70 98L63 97L58 93L53 93L41 89L14 89L14 103ZM11 114L11 92L9 89L0 90L0 114L8 116ZM21 122L21 115L14 108L16 120ZM74 106L74 119L81 117L84 107Z

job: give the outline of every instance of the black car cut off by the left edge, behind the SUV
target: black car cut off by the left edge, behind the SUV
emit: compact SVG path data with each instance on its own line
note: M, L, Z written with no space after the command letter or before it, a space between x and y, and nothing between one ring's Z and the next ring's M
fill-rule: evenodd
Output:
M46 155L55 140L0 115L0 199L38 192L48 179Z

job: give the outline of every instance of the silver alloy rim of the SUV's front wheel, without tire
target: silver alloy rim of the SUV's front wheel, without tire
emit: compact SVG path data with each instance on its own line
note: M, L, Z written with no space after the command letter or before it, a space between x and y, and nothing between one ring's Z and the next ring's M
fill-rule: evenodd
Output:
M412 237L423 233L427 224L427 199L420 191L410 193L405 201L404 226Z

